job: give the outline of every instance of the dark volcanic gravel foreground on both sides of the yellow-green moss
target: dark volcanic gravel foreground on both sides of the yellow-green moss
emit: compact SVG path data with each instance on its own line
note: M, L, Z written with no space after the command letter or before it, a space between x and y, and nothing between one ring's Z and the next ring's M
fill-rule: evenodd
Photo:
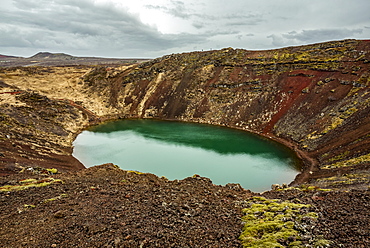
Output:
M207 178L168 181L110 164L70 174L26 172L3 177L0 184L47 177L63 183L0 192L2 247L241 247L241 208L256 195ZM369 191L263 196L312 205L319 218L303 226L305 239L322 237L331 247L370 245Z

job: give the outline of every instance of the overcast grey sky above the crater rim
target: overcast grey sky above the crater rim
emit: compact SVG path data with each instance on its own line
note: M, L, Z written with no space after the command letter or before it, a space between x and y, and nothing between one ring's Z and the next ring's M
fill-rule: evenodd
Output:
M0 54L155 58L370 39L369 0L1 0Z

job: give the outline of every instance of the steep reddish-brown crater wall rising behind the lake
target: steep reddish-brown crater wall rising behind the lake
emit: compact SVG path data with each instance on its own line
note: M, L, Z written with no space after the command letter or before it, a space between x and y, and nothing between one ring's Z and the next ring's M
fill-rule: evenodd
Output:
M210 123L260 133L301 155L306 174L297 182L303 182L368 169L369 50L369 41L345 40L270 51L228 48L173 54L134 66L99 67L85 75L80 71L75 81L68 81L71 88L63 98L77 103L68 106L80 117L68 121L80 126L110 116ZM27 89L15 81L4 79ZM50 89L30 87L55 96ZM10 116L2 112L4 118ZM67 135L77 132L60 123Z

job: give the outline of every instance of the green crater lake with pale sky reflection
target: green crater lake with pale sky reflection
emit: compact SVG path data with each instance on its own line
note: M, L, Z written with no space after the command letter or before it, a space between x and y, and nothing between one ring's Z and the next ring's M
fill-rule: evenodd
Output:
M299 161L286 147L240 130L157 120L120 120L83 131L73 156L86 167L114 163L170 180L198 174L255 192L290 183Z

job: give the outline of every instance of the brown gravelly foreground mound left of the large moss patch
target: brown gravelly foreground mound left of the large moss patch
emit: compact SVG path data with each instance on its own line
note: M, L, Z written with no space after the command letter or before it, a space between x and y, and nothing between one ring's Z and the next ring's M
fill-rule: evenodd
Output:
M205 178L170 182L110 165L60 178L63 184L1 194L2 245L240 245L241 213L235 205L250 196L241 188L213 186Z

